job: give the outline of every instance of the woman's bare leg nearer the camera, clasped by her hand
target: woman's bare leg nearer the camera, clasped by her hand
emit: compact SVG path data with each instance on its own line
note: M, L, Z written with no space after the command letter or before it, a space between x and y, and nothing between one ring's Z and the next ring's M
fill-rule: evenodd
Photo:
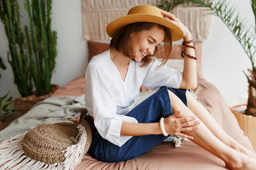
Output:
M171 91L168 90L173 112L181 111L179 117L195 115L184 103ZM198 118L198 120L200 120ZM201 121L201 120L200 120ZM184 132L194 137L193 141L198 146L216 155L225 161L227 168L231 170L255 170L256 160L238 152L220 141L201 121L198 130Z

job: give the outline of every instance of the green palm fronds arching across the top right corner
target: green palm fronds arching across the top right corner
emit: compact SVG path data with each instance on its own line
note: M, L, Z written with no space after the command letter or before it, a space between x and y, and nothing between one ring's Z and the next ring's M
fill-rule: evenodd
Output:
M238 42L243 47L246 55L249 57L249 60L252 62L253 70L256 70L256 66L254 64L254 55L256 51L256 28L252 26L247 28L245 20L241 20L238 14L234 15L236 7L235 5L229 7L229 2L226 2L225 0L218 0L217 2L210 2L210 0L159 0L158 7L165 11L172 11L179 5L184 5L186 7L209 8L213 12L213 15L218 16L234 34ZM251 6L254 16L256 16L256 0L251 0Z

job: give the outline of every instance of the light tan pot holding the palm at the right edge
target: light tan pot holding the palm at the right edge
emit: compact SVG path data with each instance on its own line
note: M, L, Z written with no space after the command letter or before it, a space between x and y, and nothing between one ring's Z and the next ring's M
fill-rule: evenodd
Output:
M248 116L233 110L238 106L242 106L245 104L236 105L230 108L232 113L235 115L240 128L244 131L244 135L246 135L252 143L252 147L256 150L256 117Z

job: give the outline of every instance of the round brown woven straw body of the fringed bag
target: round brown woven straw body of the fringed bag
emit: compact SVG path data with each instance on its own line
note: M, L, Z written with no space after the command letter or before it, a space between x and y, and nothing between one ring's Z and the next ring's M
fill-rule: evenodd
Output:
M84 155L88 151L92 141L92 131L86 121L81 122L85 127L87 141L84 148ZM46 164L53 164L65 161L64 156L68 146L75 142L70 139L79 134L77 124L61 122L55 124L43 124L27 132L22 140L22 149L27 157ZM77 139L78 140L78 139Z

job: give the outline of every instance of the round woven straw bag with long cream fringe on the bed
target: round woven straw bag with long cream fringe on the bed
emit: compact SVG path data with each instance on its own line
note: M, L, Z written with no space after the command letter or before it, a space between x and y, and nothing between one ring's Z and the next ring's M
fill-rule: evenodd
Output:
M73 170L91 142L85 119L39 125L0 143L0 170Z

